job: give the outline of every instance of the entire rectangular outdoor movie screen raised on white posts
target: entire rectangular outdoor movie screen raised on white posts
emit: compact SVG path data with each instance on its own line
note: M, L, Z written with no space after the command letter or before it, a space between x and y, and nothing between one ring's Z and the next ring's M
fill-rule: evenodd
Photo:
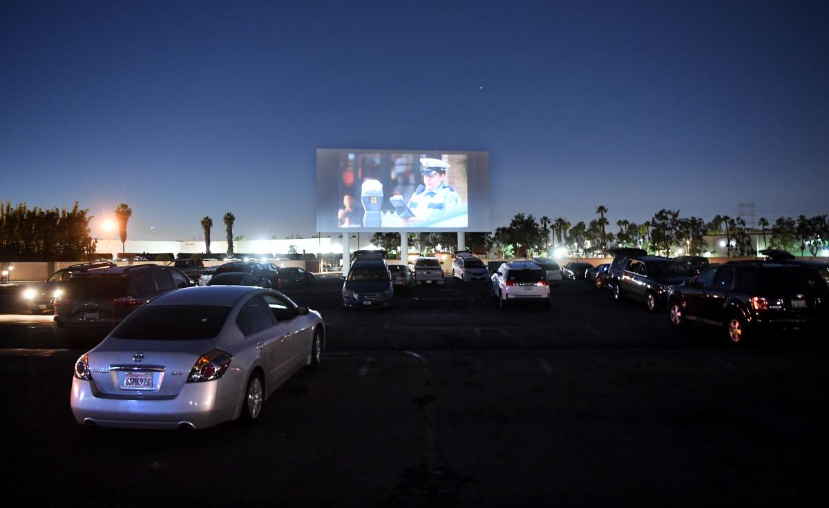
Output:
M318 230L488 230L488 173L487 152L318 149Z

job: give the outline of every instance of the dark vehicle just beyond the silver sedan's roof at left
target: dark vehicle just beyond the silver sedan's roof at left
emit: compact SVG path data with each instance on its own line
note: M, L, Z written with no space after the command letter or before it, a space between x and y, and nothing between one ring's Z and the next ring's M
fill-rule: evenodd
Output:
M192 285L181 270L158 264L75 273L61 297L55 298L56 334L68 340L90 331L110 331L144 303Z

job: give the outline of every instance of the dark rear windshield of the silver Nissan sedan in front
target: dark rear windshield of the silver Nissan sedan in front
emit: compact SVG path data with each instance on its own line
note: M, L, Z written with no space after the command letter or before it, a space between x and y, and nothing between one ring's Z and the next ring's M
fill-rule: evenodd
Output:
M219 335L230 309L223 305L145 305L112 336L138 341L203 341Z

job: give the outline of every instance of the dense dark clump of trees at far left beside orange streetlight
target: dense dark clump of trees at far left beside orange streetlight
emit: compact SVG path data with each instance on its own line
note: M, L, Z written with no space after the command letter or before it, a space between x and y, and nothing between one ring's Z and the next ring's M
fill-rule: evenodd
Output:
M70 210L26 203L0 206L0 260L2 261L77 261L95 255L95 239L90 236L89 210L77 201Z

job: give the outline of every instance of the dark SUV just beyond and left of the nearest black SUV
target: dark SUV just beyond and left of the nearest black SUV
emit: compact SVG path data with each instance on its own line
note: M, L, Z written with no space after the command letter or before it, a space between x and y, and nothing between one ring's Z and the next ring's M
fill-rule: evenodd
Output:
M690 278L686 265L662 256L637 256L628 259L622 277L613 288L613 298L633 298L645 302L650 312L665 308L671 286Z

